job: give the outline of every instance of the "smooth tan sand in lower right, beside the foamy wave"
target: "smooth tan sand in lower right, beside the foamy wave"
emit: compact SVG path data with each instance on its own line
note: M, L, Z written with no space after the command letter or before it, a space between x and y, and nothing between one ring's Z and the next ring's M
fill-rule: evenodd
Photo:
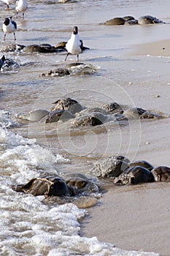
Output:
M82 232L121 249L169 256L170 184L113 187L89 208Z

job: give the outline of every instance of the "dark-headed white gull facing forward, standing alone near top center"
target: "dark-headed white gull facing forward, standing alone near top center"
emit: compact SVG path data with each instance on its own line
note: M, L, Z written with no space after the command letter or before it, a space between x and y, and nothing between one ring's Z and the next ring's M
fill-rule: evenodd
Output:
M69 56L69 54L77 54L77 61L79 61L79 53L82 52L82 40L79 39L77 26L74 26L72 36L66 43L66 50L68 52L66 58Z

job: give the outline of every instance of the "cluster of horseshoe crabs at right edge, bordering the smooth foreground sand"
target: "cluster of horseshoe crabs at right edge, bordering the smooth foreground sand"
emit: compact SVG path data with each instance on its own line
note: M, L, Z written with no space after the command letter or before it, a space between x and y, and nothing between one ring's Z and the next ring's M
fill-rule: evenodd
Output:
M145 160L131 162L123 156L100 159L89 173L98 178L109 178L117 185L170 181L169 167L154 167Z

